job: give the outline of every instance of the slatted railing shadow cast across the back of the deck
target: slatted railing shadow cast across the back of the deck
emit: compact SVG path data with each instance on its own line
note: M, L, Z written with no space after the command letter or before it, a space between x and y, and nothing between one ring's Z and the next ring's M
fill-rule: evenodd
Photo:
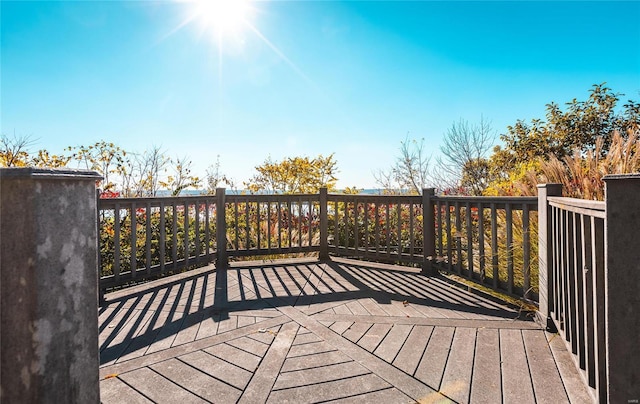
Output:
M208 293L211 281L215 283L213 299ZM231 299L228 295L230 282L238 285L237 290L234 289L238 295ZM377 287L376 283L387 290ZM286 286L292 284L295 289ZM234 312L361 298L371 298L380 304L395 300L495 319L532 321L530 317L521 316L489 300L483 299L483 305L477 305L471 301L468 292L439 278L427 280L415 271L386 270L346 261L249 263L226 270L207 270L175 280L166 279L158 285L140 286L131 293L122 290L116 295L100 309L102 315L111 310L100 322L101 333L110 330L100 345L101 363L117 360L125 352L150 345L160 333L163 339L172 338L184 324L203 319L221 322ZM186 300L181 304L183 299ZM160 320L162 308L167 306L168 312L164 310L166 320ZM146 318L144 313L149 311L153 315ZM175 319L176 315L178 319ZM141 327L144 328L142 332ZM119 335L121 332L127 334ZM116 338L121 341L113 344Z

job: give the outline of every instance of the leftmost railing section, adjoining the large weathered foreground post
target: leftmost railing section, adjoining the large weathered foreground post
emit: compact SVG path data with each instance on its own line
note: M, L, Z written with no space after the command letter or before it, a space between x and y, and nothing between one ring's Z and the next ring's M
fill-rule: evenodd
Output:
M101 289L209 263L216 206L213 196L99 199Z

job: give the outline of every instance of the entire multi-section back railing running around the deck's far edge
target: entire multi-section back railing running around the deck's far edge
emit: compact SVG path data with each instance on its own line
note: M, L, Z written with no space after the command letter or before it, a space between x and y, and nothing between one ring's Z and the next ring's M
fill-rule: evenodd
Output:
M317 252L448 271L537 298L529 235L536 198L436 197L432 189L226 195L221 188L215 196L100 199L98 208L103 290L214 259L225 267L230 258Z

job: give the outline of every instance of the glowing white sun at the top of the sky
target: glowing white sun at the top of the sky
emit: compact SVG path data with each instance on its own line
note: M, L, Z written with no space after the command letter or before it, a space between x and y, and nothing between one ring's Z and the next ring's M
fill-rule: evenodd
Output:
M249 24L249 11L248 0L197 0L192 5L193 18L200 28L218 38Z

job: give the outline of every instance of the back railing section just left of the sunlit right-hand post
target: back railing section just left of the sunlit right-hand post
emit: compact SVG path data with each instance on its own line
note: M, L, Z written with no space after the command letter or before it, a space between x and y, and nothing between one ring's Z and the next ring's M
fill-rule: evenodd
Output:
M538 300L536 197L439 196L430 203L438 269Z

